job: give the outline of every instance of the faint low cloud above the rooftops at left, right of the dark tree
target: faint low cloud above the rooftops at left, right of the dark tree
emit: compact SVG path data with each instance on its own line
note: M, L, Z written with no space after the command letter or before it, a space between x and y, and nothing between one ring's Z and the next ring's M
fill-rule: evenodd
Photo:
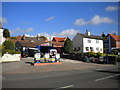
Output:
M19 34L19 33L28 33L28 32L32 32L34 29L32 27L29 27L27 29L21 29L21 28L15 28L14 30L11 30L10 33L13 35L15 33Z

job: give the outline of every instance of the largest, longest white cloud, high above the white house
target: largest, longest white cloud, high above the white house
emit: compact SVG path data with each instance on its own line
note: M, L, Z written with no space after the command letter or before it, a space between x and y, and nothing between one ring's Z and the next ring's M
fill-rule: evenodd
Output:
M101 23L113 23L113 20L109 17L100 17L99 15L93 16L89 21L84 21L84 19L76 19L75 25L98 25Z

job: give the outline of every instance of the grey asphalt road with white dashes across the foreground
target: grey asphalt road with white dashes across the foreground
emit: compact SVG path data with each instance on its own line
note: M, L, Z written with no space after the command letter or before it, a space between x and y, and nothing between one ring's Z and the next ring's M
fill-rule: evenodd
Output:
M120 72L117 67L99 69L6 74L3 88L118 88Z

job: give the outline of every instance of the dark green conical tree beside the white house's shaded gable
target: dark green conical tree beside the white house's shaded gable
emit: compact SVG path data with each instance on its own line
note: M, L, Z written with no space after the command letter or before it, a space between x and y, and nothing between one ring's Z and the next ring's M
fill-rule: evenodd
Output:
M72 51L73 51L73 43L69 38L67 38L64 44L64 52L70 53Z

